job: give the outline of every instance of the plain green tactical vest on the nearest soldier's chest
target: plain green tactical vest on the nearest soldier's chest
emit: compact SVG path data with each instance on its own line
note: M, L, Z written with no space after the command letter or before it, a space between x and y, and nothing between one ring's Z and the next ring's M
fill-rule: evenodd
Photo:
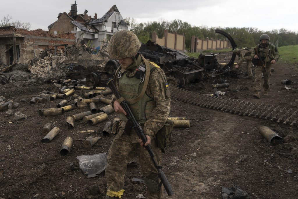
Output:
M155 69L155 66L150 66L150 72ZM117 77L116 77L117 78ZM124 97L126 101L130 101L131 99L135 99L141 94L142 88L144 86L144 81L141 82L140 79L134 77L127 77L126 71L121 75L118 79L119 81L119 93L121 97ZM143 97L130 105L131 112L136 118L137 122L141 125L145 124L146 120L149 118L151 112L156 107L156 102L149 97L146 93ZM120 119L127 122L127 118L124 114L120 114Z

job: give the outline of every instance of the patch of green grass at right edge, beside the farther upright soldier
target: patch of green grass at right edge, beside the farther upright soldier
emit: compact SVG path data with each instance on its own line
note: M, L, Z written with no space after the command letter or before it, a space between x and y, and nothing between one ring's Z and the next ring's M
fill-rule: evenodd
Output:
M279 62L298 63L298 45L281 46L277 49L280 53Z

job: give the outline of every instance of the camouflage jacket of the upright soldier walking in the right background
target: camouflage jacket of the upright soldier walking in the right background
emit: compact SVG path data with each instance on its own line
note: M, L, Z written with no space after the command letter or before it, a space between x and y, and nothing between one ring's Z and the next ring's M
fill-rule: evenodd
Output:
M261 56L259 58L261 58L266 65L268 65L272 60L277 61L280 58L277 47L275 47L271 43L269 43L267 46L261 46L260 44L258 44L255 48L258 50L258 53ZM254 55L257 55L257 52L255 52L255 50L252 53L252 57L254 57ZM258 66L262 66L262 63L260 61L258 63Z

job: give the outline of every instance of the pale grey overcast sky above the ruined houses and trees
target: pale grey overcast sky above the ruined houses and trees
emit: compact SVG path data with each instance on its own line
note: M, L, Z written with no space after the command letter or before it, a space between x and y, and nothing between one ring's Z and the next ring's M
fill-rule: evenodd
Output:
M3 1L3 2L2 2ZM74 0L1 0L0 20L30 22L32 29L48 30L58 13L71 10ZM5 2L5 3L4 3ZM192 26L254 27L267 31L285 28L298 32L298 1L295 0L77 0L78 14L101 18L114 4L123 18L138 23L180 19Z

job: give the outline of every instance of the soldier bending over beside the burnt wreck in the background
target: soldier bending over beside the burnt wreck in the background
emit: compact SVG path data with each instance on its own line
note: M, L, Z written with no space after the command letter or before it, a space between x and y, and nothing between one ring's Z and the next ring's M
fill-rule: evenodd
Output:
M241 67L241 65L243 64L244 61L246 61L246 72L248 75L249 79L252 79L252 50L249 49L234 49L233 53L235 53L236 55L238 55L239 60L237 65L235 66L236 69L238 69L239 67Z

